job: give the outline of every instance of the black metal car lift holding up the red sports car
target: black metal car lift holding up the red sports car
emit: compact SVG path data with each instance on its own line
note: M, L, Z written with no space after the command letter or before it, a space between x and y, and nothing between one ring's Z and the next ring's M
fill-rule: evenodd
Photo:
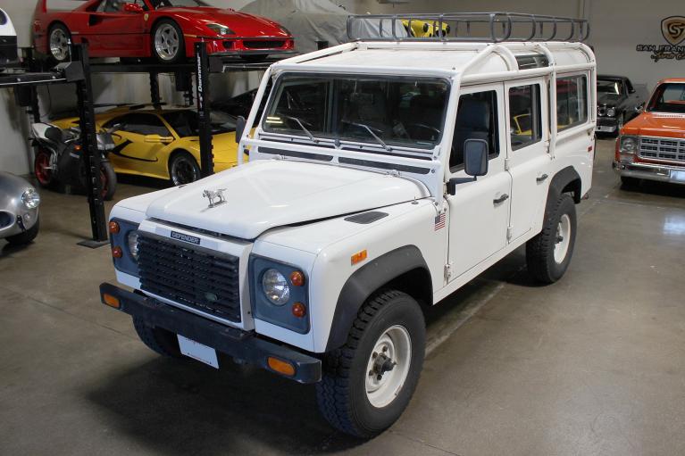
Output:
M75 83L78 99L83 151L87 154L88 206L90 209L90 226L92 239L79 242L96 248L108 244L107 219L104 214L102 198L102 180L100 172L100 154L97 153L96 122L94 112L92 75L95 73L147 73L150 76L150 99L153 105L162 105L159 93L159 75L173 74L176 90L184 92L186 101L193 104L193 80L196 75L196 106L199 118L200 168L203 178L213 174L212 125L210 114L210 73L228 73L232 71L263 71L280 58L265 59L262 62L246 62L239 56L214 56L207 54L205 43L195 46L195 62L162 64L151 62L113 62L91 63L88 59L88 45L72 45L72 61L58 65L52 70L44 70L38 60L27 50L26 68L16 72L0 73L0 88L21 87L16 89L18 104L29 108L33 122L40 121L37 87L46 84ZM31 71L33 70L33 71Z

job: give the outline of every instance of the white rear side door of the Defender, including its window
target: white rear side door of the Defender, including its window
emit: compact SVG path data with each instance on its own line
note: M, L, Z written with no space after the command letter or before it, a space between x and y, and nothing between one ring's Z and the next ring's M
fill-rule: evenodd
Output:
M509 240L526 235L540 216L551 177L547 84L527 79L505 84L507 168L512 177Z

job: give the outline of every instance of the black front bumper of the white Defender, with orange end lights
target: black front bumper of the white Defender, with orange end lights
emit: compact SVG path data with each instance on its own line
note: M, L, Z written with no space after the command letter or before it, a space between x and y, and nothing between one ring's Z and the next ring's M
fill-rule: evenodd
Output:
M147 325L162 327L172 333L188 337L188 339L212 347L217 352L226 353L238 362L255 364L282 375L269 367L267 359L274 357L281 361L288 361L295 367L293 376L282 377L305 384L321 381L321 360L288 346L260 339L254 332L221 325L111 284L104 283L100 286L100 298L104 303L103 294L114 296L119 300L120 311L132 317L144 319Z

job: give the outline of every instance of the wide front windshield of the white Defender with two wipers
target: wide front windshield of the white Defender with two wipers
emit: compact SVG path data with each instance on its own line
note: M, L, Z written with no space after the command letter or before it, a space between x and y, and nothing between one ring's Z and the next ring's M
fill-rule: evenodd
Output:
M433 147L442 136L449 87L442 79L286 75L277 84L267 132L385 148Z

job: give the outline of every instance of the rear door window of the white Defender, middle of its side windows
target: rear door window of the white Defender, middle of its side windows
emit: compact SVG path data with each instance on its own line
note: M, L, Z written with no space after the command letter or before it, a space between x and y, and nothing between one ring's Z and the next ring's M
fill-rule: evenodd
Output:
M542 139L539 84L509 89L509 125L514 151Z

